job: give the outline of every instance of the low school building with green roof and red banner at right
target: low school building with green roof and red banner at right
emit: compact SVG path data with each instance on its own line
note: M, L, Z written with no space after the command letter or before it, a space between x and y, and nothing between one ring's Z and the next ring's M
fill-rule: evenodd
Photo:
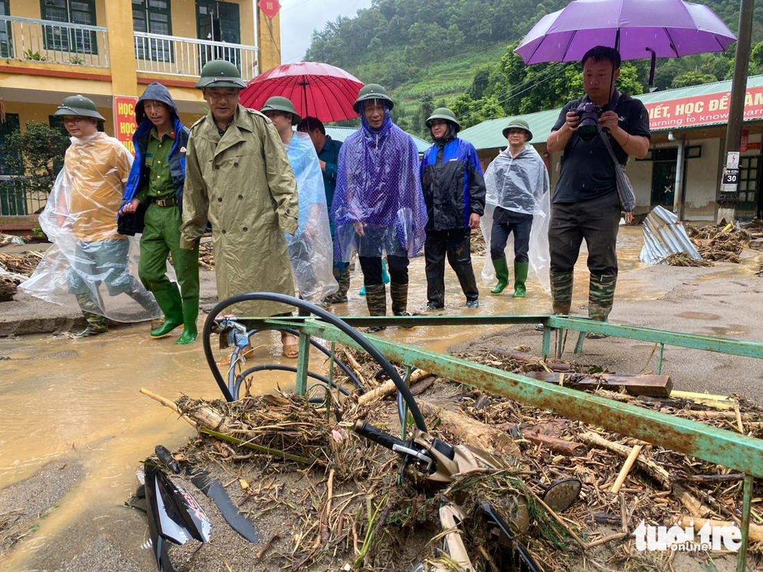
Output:
M652 145L645 159L630 159L626 172L636 192L636 214L655 205L673 210L681 220L716 220L716 195L726 158L726 123L731 82L636 95L649 111ZM559 109L520 116L530 125L533 143L549 167L552 188L559 179L561 154L549 156L546 137ZM487 166L507 146L501 131L508 118L492 119L459 133L478 150ZM761 216L761 135L763 76L747 82L742 154L736 205L738 220ZM678 157L681 157L679 161Z

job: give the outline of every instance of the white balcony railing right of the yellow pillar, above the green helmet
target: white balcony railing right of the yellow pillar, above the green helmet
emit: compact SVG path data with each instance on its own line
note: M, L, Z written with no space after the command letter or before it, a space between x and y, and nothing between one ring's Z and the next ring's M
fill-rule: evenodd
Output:
M240 43L135 32L135 58L139 72L198 78L211 59L227 59L241 70L246 82L257 75L257 48Z

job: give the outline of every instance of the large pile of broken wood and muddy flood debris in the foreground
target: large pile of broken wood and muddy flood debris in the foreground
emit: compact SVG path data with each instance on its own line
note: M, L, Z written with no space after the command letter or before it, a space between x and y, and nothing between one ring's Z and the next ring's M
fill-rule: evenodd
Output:
M247 394L236 403L188 397L176 402L199 430L176 458L208 471L217 468L229 490L240 493L234 499L240 511L268 531L254 547L258 569L410 570L427 563L423 570L459 570L438 550L448 532L439 509L451 504L464 514L462 540L480 571L511 570L502 567L497 539L479 518L485 503L502 511L507 522L522 520L517 506L524 503L526 526L517 524L513 533L542 570L578 570L581 564L594 570L670 570L674 552L636 549L633 530L640 522L670 527L693 520L698 530L703 519L741 518L741 474L427 372L410 386L430 434L488 451L504 467L468 471L441 488L417 483L410 474L398 483L401 458L351 430L362 419L400 435L394 390L364 353L340 348L336 356L369 388L366 394L338 399L336 390L317 384L307 398ZM553 376L556 383L562 376L565 385L601 397L763 437L763 410L741 397L681 394L664 379L542 360L523 347L463 357L540 379ZM339 368L333 373L337 383L348 381ZM410 414L407 423L410 431ZM269 454L262 455L262 448ZM542 496L564 479L581 481L580 500L556 513ZM755 486L753 496L763 496L763 490ZM758 522L763 511L753 504L751 551L759 556ZM693 558L694 569L708 558L704 551L680 556Z

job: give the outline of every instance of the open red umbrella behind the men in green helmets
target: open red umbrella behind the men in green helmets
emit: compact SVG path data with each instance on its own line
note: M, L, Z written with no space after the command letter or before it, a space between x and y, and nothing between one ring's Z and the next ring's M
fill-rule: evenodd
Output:
M353 104L362 87L355 76L327 63L286 63L251 80L241 90L240 103L260 109L267 98L282 95L302 117L311 115L327 123L358 117Z

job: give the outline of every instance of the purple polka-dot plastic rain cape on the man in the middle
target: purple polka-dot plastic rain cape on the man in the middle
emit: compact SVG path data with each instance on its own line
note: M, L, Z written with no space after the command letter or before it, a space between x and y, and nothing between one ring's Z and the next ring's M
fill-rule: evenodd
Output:
M378 129L362 111L360 121L340 149L332 206L336 258L415 256L426 238L427 207L414 140L392 123L388 109ZM354 223L363 223L365 236Z

